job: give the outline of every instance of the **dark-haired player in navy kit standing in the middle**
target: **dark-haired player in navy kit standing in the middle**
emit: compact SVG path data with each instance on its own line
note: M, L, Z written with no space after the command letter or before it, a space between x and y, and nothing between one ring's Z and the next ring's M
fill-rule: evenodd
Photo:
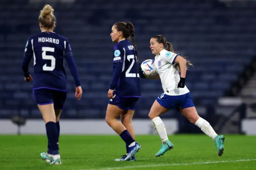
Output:
M135 161L135 154L141 146L135 142L132 127L136 102L140 98L140 79L137 66L137 50L134 43L132 23L118 22L110 34L114 46L113 79L108 91L110 101L106 112L106 122L126 143L126 155L116 161ZM132 42L127 38L131 37ZM121 121L117 121L121 116Z

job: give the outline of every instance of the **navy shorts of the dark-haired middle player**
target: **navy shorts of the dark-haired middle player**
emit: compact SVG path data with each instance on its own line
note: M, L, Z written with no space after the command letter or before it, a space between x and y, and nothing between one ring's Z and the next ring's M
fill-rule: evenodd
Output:
M113 99L108 101L110 105L116 105L120 109L123 110L136 110L136 102L138 101L138 97L119 97L115 96Z

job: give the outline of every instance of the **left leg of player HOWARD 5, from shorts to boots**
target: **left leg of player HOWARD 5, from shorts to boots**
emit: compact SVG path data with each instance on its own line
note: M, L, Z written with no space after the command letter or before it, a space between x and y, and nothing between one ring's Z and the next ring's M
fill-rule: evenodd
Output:
M53 104L53 91L50 89L37 89L33 92L35 100L38 103L38 109L42 113L42 117L46 123L46 134L50 146L48 150L51 150L51 154L43 152L41 153L41 157L44 160L48 160L50 164L61 164L58 146L58 130L56 126L56 115Z

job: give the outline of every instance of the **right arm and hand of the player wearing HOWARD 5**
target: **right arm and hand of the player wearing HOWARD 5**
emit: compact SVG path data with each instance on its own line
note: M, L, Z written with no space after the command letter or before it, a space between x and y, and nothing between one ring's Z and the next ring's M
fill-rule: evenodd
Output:
M64 57L68 63L68 67L70 69L70 73L74 78L75 84L76 84L76 93L75 96L76 98L79 100L82 97L82 87L79 81L79 77L78 77L78 71L77 71L77 67L76 67L76 63L72 54L72 50L71 50L71 46L70 43L68 42L68 40L66 40L66 48L65 48L65 52L64 52Z

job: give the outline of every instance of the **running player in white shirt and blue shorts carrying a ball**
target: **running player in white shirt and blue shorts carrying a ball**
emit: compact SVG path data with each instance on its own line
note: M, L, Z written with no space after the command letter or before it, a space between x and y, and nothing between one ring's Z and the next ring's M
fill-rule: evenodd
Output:
M162 139L161 148L156 156L163 155L174 146L168 139L164 123L159 117L170 109L180 111L191 123L210 136L218 149L218 156L221 156L224 151L224 136L216 134L212 126L197 114L190 91L185 85L186 70L192 64L174 53L171 43L167 42L164 36L153 36L150 40L150 49L156 55L154 64L158 74L149 79L161 79L164 90L153 103L148 115ZM141 67L139 73L141 78L146 78Z

